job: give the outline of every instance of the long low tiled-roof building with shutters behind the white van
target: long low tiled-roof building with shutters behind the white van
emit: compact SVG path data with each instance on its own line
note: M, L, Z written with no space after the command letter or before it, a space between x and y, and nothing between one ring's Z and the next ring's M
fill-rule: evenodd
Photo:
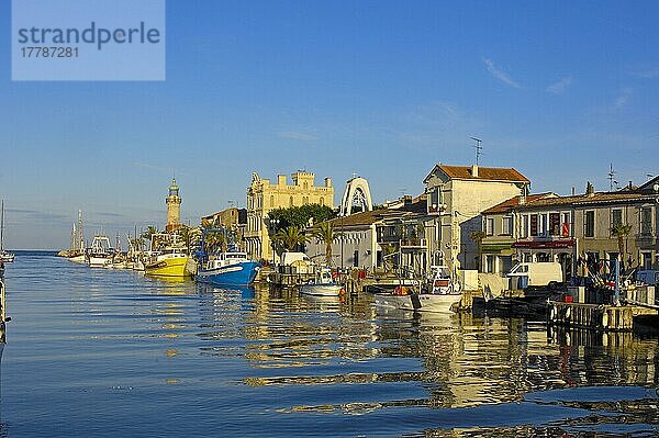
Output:
M616 192L595 192L589 183L583 194L529 195L483 212L483 271L504 274L513 260L558 261L569 280L584 273L579 259L618 258L618 236L613 232L618 225L630 226L623 236L625 266L658 269L658 180ZM499 235L503 227L512 228L504 242Z

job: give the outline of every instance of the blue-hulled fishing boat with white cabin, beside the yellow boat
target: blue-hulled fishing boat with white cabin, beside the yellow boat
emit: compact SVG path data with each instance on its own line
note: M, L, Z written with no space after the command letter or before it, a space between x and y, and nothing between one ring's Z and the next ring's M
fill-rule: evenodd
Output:
M209 246L206 234L214 233L222 237L215 246L227 246L228 250L206 252ZM226 229L204 229L201 238L201 251L197 254L197 281L217 285L249 285L254 282L260 263L241 252L234 244L234 235Z

